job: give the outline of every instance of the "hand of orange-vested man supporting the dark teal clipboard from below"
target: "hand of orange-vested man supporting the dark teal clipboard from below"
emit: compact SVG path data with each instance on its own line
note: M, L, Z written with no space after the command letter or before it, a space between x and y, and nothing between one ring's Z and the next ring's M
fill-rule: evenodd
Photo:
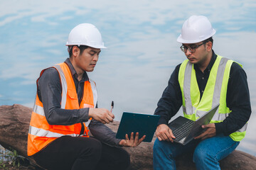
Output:
M134 138L134 132L131 133L131 138L129 139L128 135L125 135L125 140L121 140L119 145L123 147L137 147L144 139L146 135L139 139L139 132L136 133Z

